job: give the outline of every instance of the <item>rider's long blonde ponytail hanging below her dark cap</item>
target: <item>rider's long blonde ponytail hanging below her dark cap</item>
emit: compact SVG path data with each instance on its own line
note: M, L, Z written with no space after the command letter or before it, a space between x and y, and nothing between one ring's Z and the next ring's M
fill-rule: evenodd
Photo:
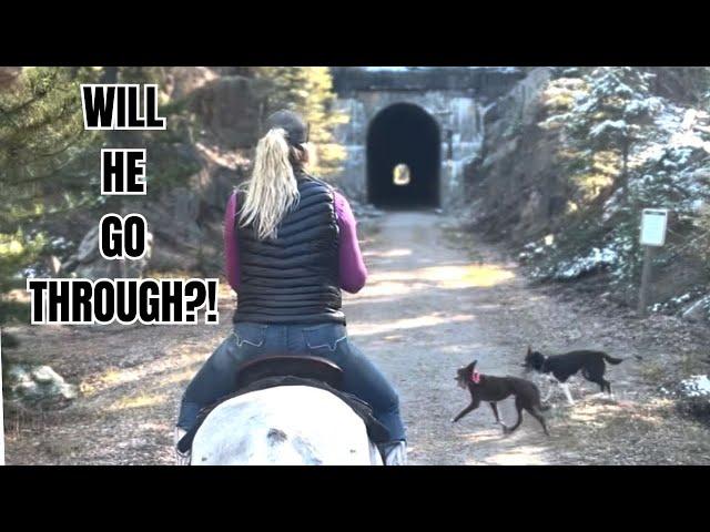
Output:
M285 130L268 130L256 145L252 178L241 186L240 226L253 224L260 241L276 238L278 224L301 200L294 167L307 161L306 147L290 145Z

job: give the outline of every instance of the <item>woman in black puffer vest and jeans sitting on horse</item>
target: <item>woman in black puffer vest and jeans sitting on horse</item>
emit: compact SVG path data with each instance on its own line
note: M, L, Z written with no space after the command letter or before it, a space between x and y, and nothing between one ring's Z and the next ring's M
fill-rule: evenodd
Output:
M232 194L225 214L226 272L237 294L234 330L187 386L176 441L202 408L235 391L244 361L313 355L337 364L343 391L369 403L388 429L392 441L381 446L385 463L405 463L397 393L349 340L341 309L341 289L355 294L367 277L353 212L344 196L306 173L304 120L278 111L266 125L251 180Z

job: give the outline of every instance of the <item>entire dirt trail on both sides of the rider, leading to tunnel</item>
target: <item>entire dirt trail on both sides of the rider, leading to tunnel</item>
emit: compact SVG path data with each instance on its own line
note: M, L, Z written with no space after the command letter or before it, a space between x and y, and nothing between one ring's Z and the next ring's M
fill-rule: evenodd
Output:
M645 403L643 368L635 362L609 370L616 402L596 399L588 383L572 385L577 399L584 395L574 408L554 396L550 438L527 415L503 436L486 405L453 424L468 400L455 370L474 358L481 372L519 376L528 342L647 357L665 347L527 287L515 264L447 229L452 222L426 212L368 222L368 283L345 296L353 340L399 391L413 464L710 463L708 431ZM20 328L20 355L81 382L83 397L41 417L6 415L8 463L172 463L180 396L229 334L233 305L225 289L219 326ZM515 420L510 400L500 411Z

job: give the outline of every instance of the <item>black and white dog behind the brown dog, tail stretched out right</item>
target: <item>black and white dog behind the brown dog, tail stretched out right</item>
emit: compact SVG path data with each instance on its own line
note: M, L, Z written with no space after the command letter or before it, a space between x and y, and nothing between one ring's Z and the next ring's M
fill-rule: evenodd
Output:
M641 357L636 356L638 360ZM611 382L604 378L604 374L607 370L609 362L612 365L621 364L626 358L615 358L607 355L604 351L579 350L569 351L564 355L545 356L539 351L534 351L528 346L528 352L525 356L523 367L527 371L537 371L539 374L551 374L555 380L561 386L567 397L567 401L574 405L572 396L569 392L569 386L567 379L572 375L581 372L581 376L590 382L596 382L601 388L602 392L611 395ZM542 401L547 401L551 395L550 388L547 397Z

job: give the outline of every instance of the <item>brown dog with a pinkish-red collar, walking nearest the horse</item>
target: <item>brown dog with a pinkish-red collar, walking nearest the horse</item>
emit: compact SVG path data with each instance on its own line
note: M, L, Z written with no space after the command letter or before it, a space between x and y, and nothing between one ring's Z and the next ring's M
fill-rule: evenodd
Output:
M474 360L468 366L458 369L456 372L456 381L458 386L470 392L470 405L462 410L458 416L452 419L452 422L456 422L467 413L476 410L480 405L480 401L490 403L490 409L496 417L496 422L503 427L503 432L509 434L520 426L523 421L523 410L527 410L530 416L537 419L542 426L542 430L547 436L550 436L545 424L545 417L542 411L547 410L547 407L542 407L540 402L540 390L529 380L519 379L517 377L493 377L490 375L480 375L475 370L478 360ZM518 420L516 423L508 428L500 421L498 416L497 402L501 401L510 396L515 396L515 408L518 410Z

